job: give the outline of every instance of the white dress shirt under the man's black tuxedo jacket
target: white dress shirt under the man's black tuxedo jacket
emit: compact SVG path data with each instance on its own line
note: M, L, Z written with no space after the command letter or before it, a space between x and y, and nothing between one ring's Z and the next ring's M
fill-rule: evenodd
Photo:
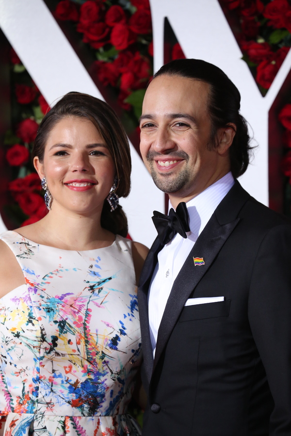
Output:
M158 254L158 263L148 293L149 327L154 355L158 330L173 283L190 251L193 249L199 234L208 223L218 204L233 185L234 179L231 172L228 172L224 177L205 189L205 191L187 202L190 227L187 238L176 234L172 241L166 244ZM169 203L169 210L171 207L172 205Z

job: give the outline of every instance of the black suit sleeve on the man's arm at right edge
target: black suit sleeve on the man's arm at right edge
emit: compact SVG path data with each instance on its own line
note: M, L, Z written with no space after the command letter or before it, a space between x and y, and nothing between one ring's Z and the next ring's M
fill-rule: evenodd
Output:
M270 230L250 283L249 322L274 399L270 436L291 435L291 226Z

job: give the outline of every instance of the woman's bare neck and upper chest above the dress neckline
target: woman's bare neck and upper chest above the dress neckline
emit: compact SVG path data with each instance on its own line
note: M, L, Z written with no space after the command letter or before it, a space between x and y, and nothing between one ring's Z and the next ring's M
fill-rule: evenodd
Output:
M54 208L40 221L16 232L38 244L67 250L90 250L111 245L115 235L100 225L101 211L81 215Z

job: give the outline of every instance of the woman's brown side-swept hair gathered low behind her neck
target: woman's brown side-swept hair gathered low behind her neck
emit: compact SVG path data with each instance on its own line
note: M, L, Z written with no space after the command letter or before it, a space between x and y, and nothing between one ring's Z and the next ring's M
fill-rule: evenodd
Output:
M131 159L129 141L115 112L102 100L88 94L67 93L45 115L39 125L32 149L32 158L43 161L45 146L51 129L64 117L90 120L105 141L116 168L118 197L127 197L130 191ZM105 200L101 213L101 226L114 234L126 236L128 222L120 205L113 212Z

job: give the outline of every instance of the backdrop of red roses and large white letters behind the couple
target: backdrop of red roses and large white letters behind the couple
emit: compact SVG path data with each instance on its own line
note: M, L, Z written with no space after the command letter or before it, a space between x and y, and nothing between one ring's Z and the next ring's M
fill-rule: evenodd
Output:
M122 205L132 238L150 245L152 211L165 201L138 154L137 120L153 70L184 56L218 65L237 85L258 144L242 186L290 212L290 1L0 0L0 28L0 209L8 227L44 215L32 141L49 105L79 91L105 99L126 128L132 191Z

